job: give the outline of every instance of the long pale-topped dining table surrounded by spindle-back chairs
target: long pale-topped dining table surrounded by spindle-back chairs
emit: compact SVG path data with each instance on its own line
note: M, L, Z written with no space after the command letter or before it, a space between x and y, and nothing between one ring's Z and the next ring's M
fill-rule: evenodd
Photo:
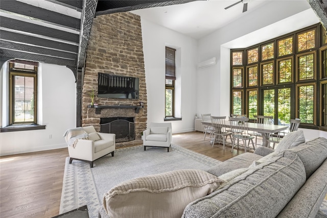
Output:
M212 126L211 121L202 121L203 125ZM225 120L225 128L231 128L231 124L229 120ZM258 123L247 123L248 131L258 132L262 135L262 145L264 147L269 146L269 142L267 139L269 138L270 134L281 132L286 130L288 126L283 125L273 125L273 124L258 124Z

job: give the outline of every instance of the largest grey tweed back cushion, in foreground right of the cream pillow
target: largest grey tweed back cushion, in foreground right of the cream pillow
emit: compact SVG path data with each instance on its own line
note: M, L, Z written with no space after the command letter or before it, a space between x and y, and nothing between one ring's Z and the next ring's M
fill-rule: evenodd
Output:
M275 217L305 182L300 158L283 152L190 203L182 217Z

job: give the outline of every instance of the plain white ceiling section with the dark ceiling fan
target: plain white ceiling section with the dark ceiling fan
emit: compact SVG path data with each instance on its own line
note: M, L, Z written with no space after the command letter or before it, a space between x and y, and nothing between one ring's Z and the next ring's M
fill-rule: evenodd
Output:
M270 1L252 0L247 2L247 11L244 13L244 4L238 0L195 1L183 5L136 10L132 13L160 26L200 39L227 25L227 23L264 7ZM225 9L235 3L238 4Z

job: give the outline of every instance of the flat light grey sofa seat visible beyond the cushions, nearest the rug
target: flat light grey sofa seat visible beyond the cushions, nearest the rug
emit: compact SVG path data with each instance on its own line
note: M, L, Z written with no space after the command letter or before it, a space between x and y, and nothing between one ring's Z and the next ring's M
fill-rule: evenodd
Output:
M261 155L247 152L212 166L211 168L207 169L206 172L219 177L220 175L235 169L248 167L253 161L259 160L260 158L262 158Z

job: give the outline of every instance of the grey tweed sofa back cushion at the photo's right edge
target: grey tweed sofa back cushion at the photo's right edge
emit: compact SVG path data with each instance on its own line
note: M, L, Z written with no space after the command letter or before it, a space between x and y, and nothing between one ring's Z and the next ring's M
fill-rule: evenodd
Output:
M286 151L299 156L306 168L308 179L327 158L327 139L323 137L315 138Z

